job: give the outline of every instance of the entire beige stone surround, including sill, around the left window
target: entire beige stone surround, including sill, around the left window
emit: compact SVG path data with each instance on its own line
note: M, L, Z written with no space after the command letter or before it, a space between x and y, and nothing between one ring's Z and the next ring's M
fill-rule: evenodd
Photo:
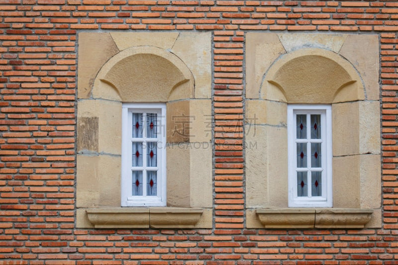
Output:
M210 33L79 34L78 228L212 227L210 50ZM122 102L166 102L167 207L120 207Z

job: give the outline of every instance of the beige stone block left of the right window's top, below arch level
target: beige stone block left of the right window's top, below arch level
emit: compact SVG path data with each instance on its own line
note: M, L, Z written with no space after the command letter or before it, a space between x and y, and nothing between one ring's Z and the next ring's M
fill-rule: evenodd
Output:
M264 99L247 99L245 122L249 124L287 125L287 104Z

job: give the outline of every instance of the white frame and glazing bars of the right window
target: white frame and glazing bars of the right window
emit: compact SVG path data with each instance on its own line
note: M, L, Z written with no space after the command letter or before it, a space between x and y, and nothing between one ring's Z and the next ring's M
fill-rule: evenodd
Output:
M322 184L321 196L310 196L310 144L307 144L307 166L308 166L308 196L298 197L297 191L297 132L296 114L320 114L321 115L321 141L310 139L310 121L307 120L307 143L321 142L321 171ZM319 169L319 168L318 168ZM323 104L289 104L288 105L288 190L289 207L332 207L332 107Z

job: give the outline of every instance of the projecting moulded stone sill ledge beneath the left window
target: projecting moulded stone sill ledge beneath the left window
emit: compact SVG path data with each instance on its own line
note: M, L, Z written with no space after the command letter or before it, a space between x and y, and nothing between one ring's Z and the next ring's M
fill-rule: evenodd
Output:
M176 207L86 209L95 228L195 228L203 211Z

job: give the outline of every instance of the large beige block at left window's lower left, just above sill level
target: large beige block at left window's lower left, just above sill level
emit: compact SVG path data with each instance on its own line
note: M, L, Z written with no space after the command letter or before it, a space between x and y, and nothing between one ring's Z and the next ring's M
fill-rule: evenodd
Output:
M120 206L120 156L77 156L78 208Z

